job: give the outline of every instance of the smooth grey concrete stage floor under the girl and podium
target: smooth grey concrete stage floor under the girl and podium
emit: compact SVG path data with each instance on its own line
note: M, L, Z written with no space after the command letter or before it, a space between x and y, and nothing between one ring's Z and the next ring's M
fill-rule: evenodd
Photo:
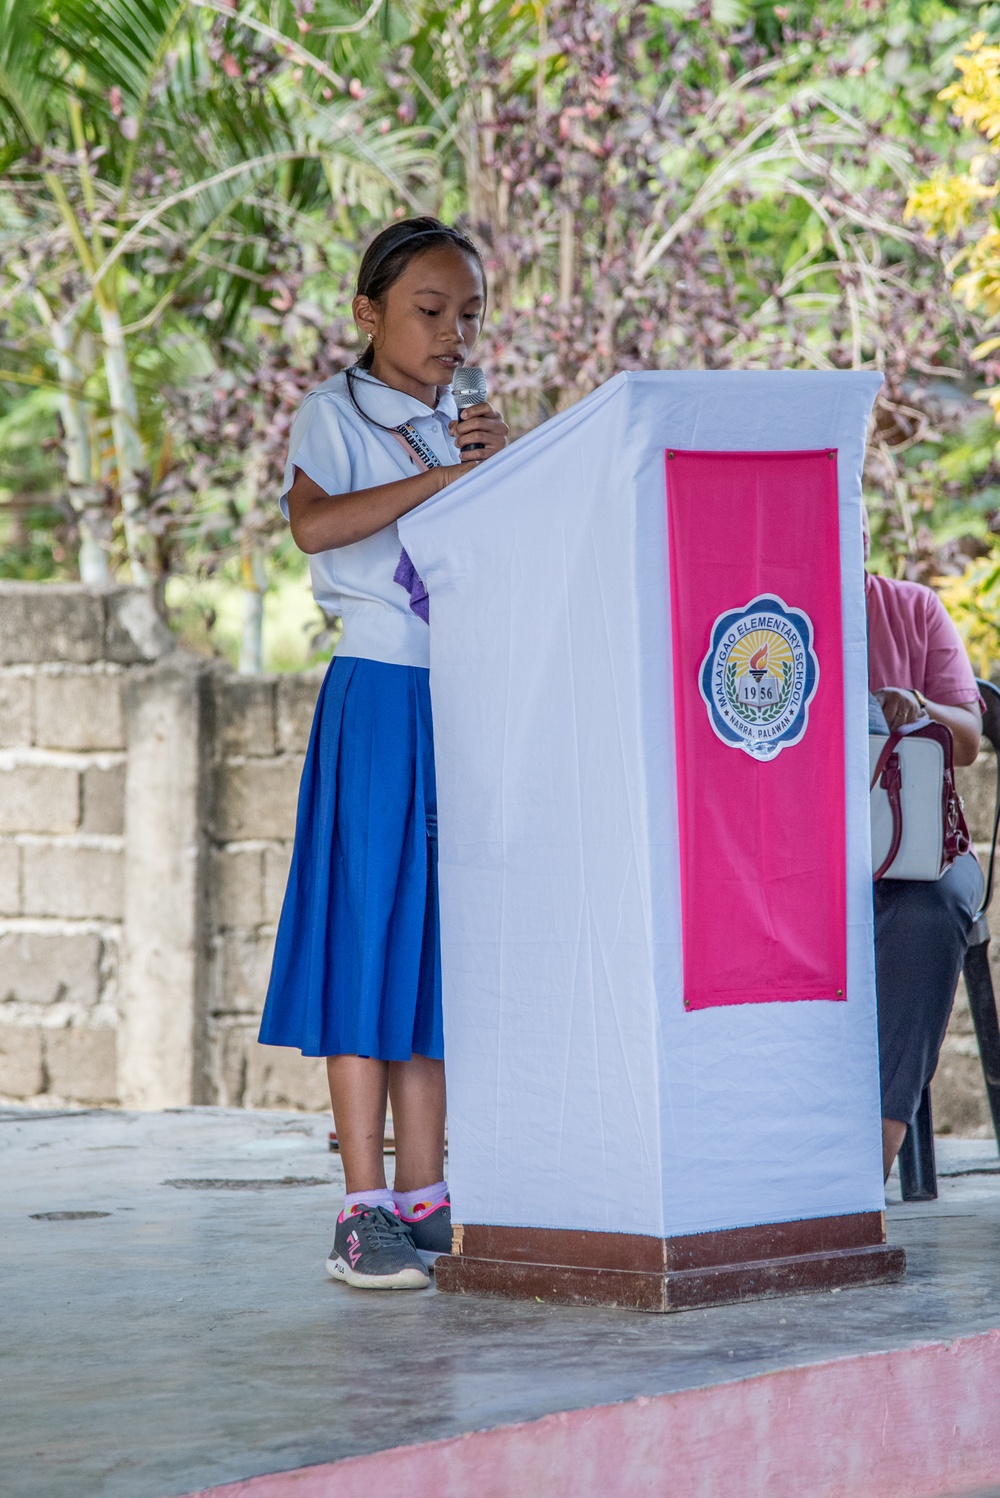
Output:
M166 1498L1000 1326L993 1141L940 1141L936 1203L891 1180L903 1284L662 1317L332 1284L328 1128L0 1110L4 1498Z

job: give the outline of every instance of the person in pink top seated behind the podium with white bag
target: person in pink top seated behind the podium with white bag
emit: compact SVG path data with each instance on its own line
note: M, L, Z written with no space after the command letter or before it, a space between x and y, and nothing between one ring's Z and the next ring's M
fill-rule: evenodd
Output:
M868 538L865 535L865 551ZM955 764L979 753L982 716L976 679L945 605L921 583L865 578L868 688L889 730L933 718L952 731ZM933 884L879 879L874 885L882 1159L888 1176L934 1076L958 974L982 900L973 852Z

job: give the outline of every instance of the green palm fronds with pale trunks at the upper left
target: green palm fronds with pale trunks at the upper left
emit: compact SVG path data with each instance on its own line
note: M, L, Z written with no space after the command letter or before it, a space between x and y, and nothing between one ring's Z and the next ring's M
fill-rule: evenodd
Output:
M0 382L60 391L96 581L123 550L138 580L177 563L157 487L178 336L213 369L249 318L289 304L305 213L388 213L434 178L412 132L380 141L320 58L302 87L286 10L281 31L216 0L0 0Z

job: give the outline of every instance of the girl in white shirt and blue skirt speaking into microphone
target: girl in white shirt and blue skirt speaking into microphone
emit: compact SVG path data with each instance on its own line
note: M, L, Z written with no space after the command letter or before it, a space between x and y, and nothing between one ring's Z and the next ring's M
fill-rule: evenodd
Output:
M260 1041L326 1058L347 1188L326 1269L370 1290L424 1288L451 1251L428 599L397 520L506 443L485 401L460 430L451 391L485 301L466 235L427 217L383 229L353 300L367 348L302 401L281 490L343 637L302 768Z

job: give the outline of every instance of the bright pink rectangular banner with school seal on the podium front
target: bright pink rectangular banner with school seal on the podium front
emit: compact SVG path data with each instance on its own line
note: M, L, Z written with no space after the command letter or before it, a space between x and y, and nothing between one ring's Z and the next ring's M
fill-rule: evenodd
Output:
M684 1004L847 993L837 454L666 452Z

